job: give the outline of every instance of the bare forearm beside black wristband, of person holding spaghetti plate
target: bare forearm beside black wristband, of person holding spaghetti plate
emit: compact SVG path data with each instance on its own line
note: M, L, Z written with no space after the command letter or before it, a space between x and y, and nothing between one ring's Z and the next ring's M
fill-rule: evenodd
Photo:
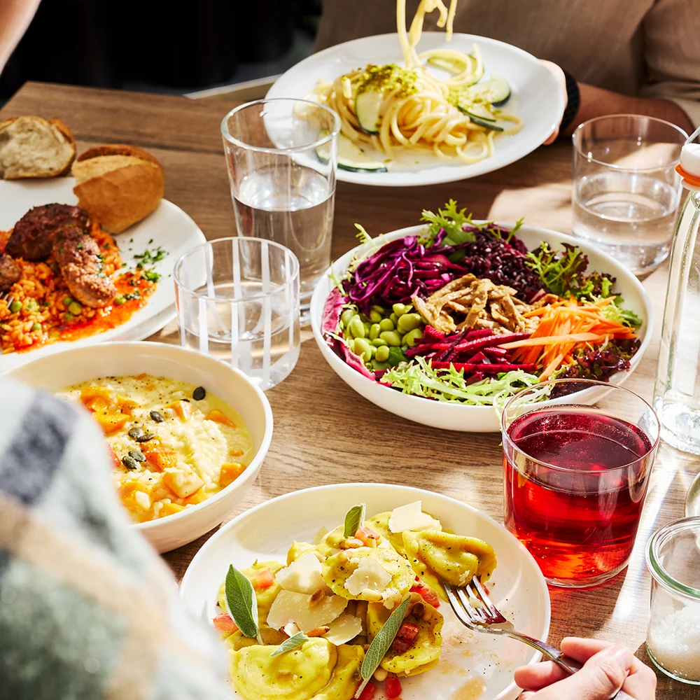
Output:
M671 122L690 133L694 126L687 114L670 99L655 97L630 97L612 90L603 90L593 85L578 84L581 106L565 134L571 134L582 122L606 114L645 114Z

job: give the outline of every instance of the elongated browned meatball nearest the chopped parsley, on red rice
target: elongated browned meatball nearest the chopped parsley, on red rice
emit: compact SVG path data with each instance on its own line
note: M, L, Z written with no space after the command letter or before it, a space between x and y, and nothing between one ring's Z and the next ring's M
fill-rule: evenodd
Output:
M53 236L53 254L73 297L93 309L111 304L117 290L102 272L94 238L78 226L61 228Z

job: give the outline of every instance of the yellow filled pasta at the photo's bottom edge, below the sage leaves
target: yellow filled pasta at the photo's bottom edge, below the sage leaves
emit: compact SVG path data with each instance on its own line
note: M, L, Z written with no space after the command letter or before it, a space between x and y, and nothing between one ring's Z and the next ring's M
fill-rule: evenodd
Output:
M272 657L276 649L255 645L231 652L231 677L246 700L350 700L355 694L362 647L336 647L314 637Z

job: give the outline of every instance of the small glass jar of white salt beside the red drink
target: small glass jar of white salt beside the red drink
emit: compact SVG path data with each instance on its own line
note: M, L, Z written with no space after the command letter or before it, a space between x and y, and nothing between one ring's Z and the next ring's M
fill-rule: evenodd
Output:
M671 678L700 685L700 517L674 520L654 533L647 567L649 657Z

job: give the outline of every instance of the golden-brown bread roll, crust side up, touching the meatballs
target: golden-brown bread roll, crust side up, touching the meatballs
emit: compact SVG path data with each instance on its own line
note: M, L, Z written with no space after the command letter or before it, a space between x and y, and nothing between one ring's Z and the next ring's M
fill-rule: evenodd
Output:
M73 163L73 176L78 206L112 233L151 214L165 192L158 160L125 144L89 148Z

